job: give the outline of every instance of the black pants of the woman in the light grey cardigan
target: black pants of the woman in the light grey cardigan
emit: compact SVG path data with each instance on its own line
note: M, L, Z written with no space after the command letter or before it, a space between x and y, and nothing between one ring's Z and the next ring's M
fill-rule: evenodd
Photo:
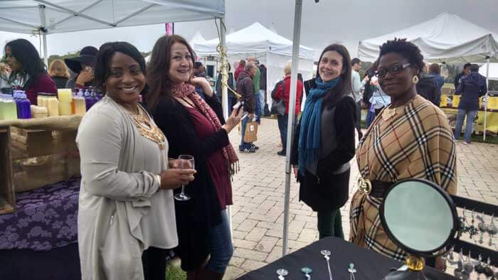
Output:
M145 280L166 279L166 256L168 251L167 249L149 247L142 253Z

